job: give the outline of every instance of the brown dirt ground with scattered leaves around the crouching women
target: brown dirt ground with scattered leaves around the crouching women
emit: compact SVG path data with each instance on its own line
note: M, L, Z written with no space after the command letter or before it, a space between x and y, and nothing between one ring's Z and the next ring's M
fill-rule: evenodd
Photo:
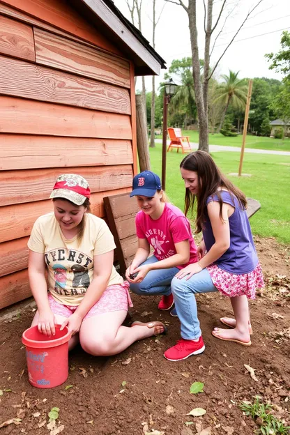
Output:
M179 338L178 319L157 310L159 298L133 296L134 319L165 321L168 334L137 342L108 358L89 356L77 347L69 356L66 383L45 390L30 386L21 342L33 310L26 308L2 321L0 427L7 420L21 421L13 420L0 434L250 435L258 426L238 404L253 401L255 395L270 401L275 415L289 424L290 249L273 239L255 241L266 289L250 302L250 348L211 335L214 326L221 326L220 316L231 314L229 300L219 293L201 295L197 303L206 351L171 363L163 352ZM2 310L2 316L5 313ZM256 381L244 365L255 369ZM195 381L204 383L204 392L190 394ZM47 428L53 407L59 408L59 418L55 427L52 423ZM186 415L195 408L206 414Z

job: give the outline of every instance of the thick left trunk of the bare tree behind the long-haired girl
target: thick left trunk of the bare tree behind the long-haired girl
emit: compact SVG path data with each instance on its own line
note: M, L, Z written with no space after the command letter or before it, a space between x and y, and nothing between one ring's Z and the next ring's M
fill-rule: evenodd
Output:
M196 0L189 0L188 20L190 28L190 43L192 49L192 76L194 84L195 102L197 104L197 116L199 119L199 150L208 153L208 114L204 108L204 98L201 87L199 68L199 49L197 45L197 8Z

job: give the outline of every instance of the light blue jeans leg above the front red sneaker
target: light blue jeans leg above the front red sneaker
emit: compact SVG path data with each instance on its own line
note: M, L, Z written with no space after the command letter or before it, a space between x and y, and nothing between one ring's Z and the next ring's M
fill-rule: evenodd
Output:
M174 294L176 312L181 321L181 337L198 339L201 336L201 329L197 318L197 302L194 294L217 291L211 280L211 275L205 268L192 275L189 280L173 278L171 290Z

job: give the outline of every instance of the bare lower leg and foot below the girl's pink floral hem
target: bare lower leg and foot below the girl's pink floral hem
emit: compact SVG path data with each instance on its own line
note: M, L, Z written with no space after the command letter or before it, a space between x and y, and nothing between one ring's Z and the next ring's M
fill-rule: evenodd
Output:
M236 339L238 341L248 343L250 342L249 332L249 304L247 296L236 296L231 298L231 306L234 310L236 318L236 326L234 329L214 328L213 333L215 337L221 339Z

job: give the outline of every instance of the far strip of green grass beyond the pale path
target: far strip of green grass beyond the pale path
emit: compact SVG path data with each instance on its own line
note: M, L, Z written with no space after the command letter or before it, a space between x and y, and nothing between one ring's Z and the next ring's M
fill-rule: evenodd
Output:
M190 137L190 142L199 142L199 133L193 130L182 130L184 136ZM158 136L162 139L162 136ZM236 137L225 137L223 135L215 134L209 135L210 145L226 145L226 146L242 146L242 135ZM245 144L246 148L259 148L275 151L290 151L290 139L289 137L284 139L273 139L272 137L259 137L247 135Z

